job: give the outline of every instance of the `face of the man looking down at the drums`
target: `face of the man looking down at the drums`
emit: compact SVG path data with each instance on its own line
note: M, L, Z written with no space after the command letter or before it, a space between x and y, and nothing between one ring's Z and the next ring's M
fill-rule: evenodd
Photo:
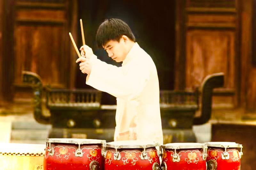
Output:
M125 42L122 38L119 42L110 40L103 48L107 51L108 57L111 57L116 62L124 61L127 55Z

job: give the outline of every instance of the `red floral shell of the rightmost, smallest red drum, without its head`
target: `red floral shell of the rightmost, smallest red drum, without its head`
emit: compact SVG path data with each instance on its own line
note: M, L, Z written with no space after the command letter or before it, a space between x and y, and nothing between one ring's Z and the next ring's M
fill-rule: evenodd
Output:
M240 170L241 161L239 156L238 148L227 148L229 153L229 159L222 159L222 154L225 151L225 148L220 147L209 147L207 151L206 161L215 160L217 163L216 170Z

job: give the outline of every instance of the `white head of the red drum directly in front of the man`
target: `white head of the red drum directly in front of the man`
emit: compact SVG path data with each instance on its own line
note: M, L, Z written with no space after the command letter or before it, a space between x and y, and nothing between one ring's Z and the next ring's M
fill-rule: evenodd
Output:
M153 141L142 141L142 140L135 140L135 141L115 141L109 142L106 145L108 148L151 148L158 146L158 143Z

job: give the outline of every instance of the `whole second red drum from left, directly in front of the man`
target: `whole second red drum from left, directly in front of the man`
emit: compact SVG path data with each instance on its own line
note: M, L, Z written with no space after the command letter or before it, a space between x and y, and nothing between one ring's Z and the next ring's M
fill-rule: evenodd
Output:
M106 144L105 170L160 170L156 146L151 141L116 141Z

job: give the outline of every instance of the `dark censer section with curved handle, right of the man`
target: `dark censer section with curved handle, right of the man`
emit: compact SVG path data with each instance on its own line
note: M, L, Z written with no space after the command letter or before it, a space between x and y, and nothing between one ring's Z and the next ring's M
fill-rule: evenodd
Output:
M206 76L201 84L201 89L195 91L171 91L160 90L160 108L163 127L168 125L171 128L191 128L192 125L206 123L211 118L212 94L214 88L223 87L224 73L214 73ZM201 101L199 96L201 95ZM201 104L200 117L194 117L196 110ZM168 119L163 120L163 117ZM182 124L182 125L181 125ZM186 126L185 126L186 125Z

